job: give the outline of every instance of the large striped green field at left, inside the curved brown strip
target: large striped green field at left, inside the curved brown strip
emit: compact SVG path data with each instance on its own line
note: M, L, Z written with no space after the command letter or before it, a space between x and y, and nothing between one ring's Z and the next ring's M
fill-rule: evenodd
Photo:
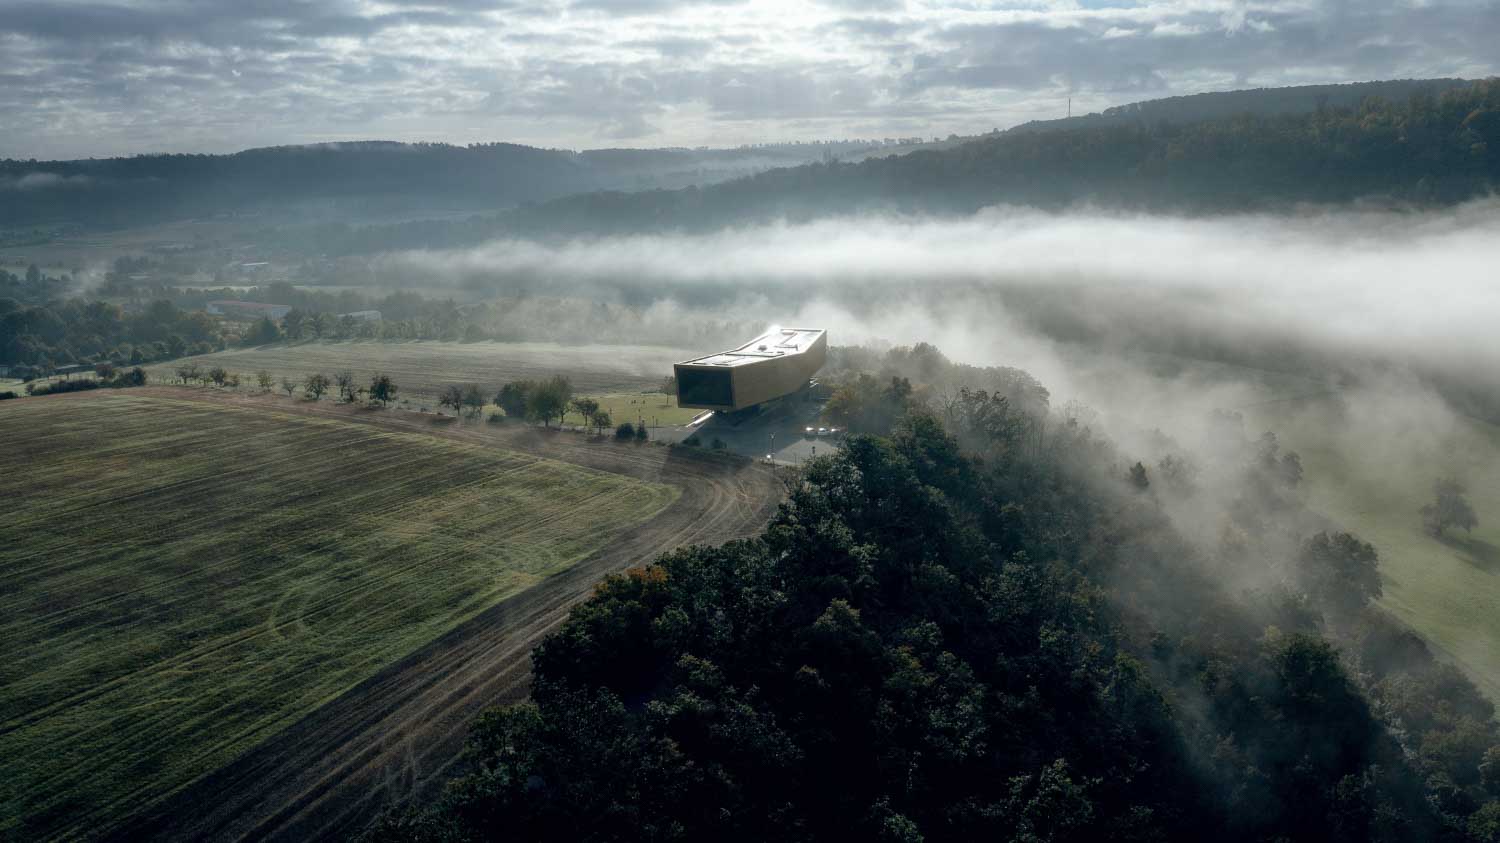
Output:
M88 836L678 492L264 406L0 404L0 836Z

